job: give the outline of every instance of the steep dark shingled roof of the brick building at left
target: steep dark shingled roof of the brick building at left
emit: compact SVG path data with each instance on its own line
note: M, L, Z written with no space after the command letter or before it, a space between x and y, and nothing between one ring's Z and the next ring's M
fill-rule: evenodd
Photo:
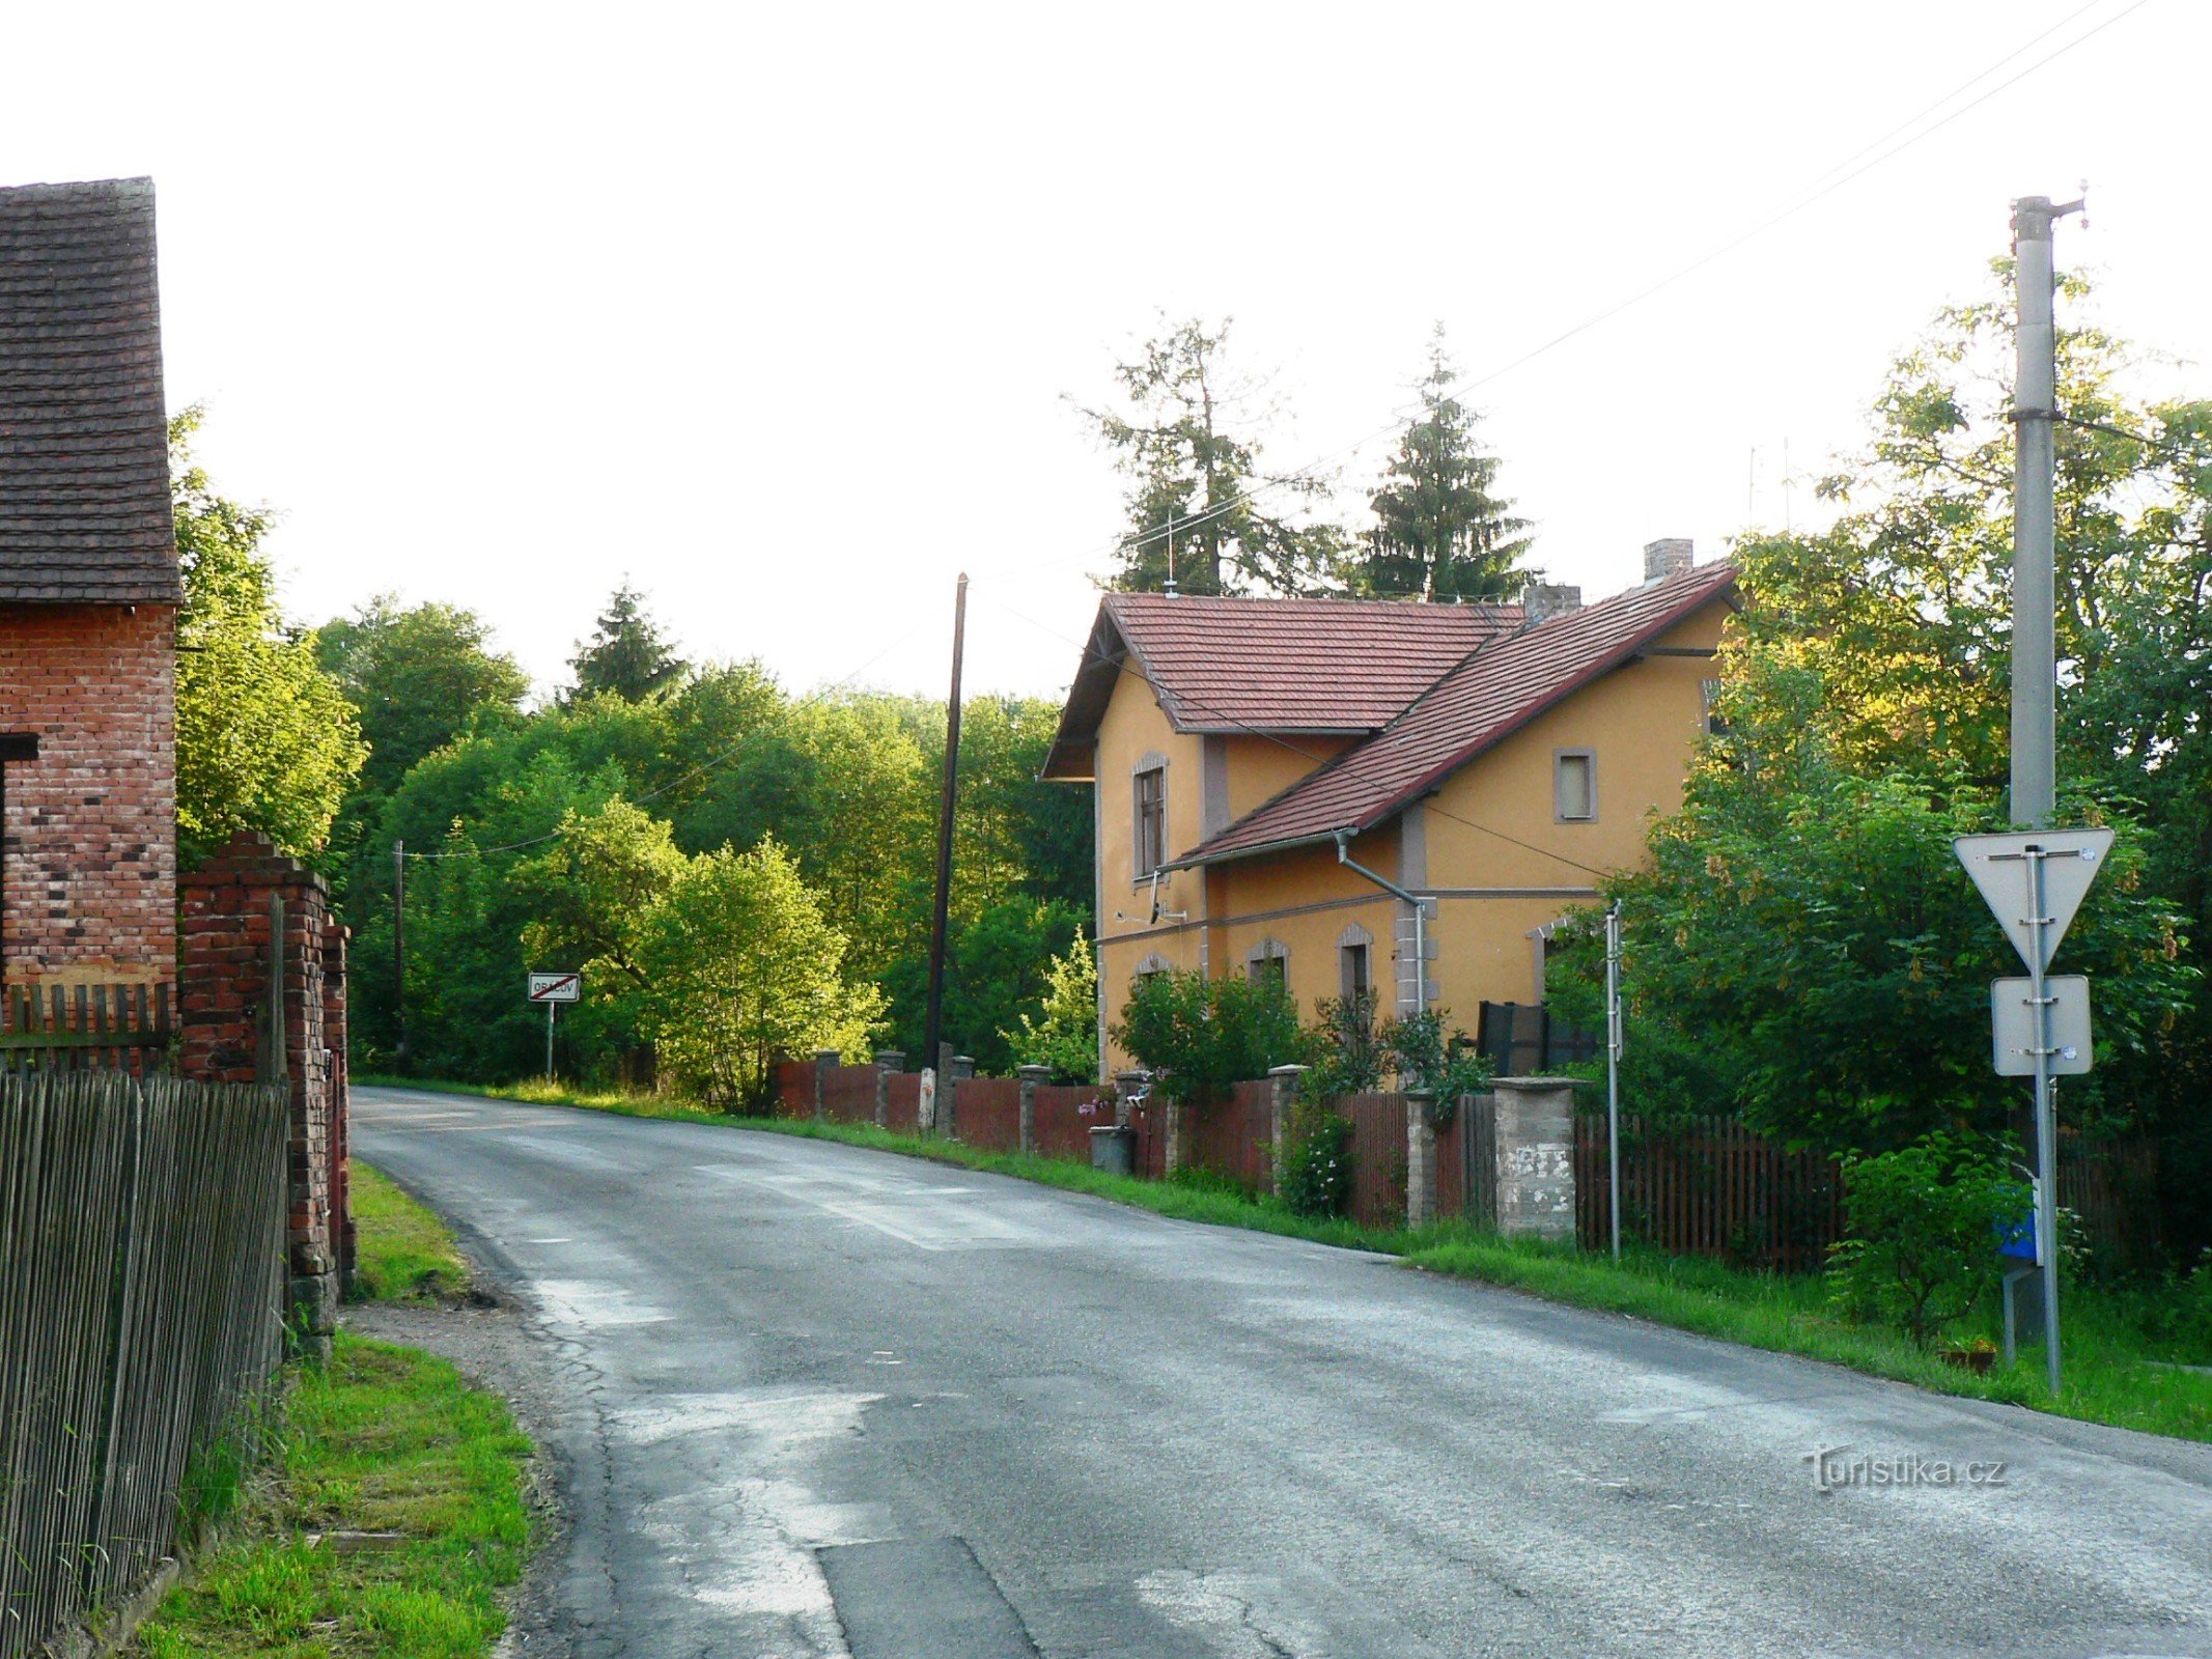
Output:
M0 190L0 604L179 604L153 179Z

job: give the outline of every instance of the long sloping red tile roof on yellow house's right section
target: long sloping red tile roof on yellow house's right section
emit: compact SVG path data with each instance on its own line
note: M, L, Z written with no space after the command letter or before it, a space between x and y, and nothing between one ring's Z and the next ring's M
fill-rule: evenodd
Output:
M1387 730L1298 779L1175 865L1243 858L1383 823L1690 613L1730 595L1734 584L1734 566L1705 564L1478 650ZM1352 668L1340 664L1345 672Z

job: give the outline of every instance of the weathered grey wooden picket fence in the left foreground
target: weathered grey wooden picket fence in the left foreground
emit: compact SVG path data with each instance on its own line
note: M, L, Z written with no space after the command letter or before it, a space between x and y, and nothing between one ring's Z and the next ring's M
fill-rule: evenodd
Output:
M142 1584L192 1458L254 1420L288 1117L283 1086L0 1075L0 1659Z

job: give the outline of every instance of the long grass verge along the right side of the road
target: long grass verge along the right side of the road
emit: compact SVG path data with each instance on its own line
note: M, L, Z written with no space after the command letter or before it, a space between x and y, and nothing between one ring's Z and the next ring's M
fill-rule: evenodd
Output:
M394 1088L420 1086L398 1077L376 1082ZM1922 1354L1896 1332L1838 1318L1827 1303L1827 1285L1816 1276L1743 1272L1717 1261L1666 1256L1652 1250L1635 1250L1615 1265L1606 1256L1559 1245L1506 1241L1458 1221L1418 1232L1360 1228L1352 1221L1310 1221L1270 1199L1250 1199L1225 1181L1137 1181L1102 1175L1068 1159L991 1152L960 1141L925 1141L880 1130L874 1124L723 1117L686 1102L593 1095L546 1084L513 1088L436 1084L436 1088L867 1146L880 1152L1011 1175L1071 1192L1091 1192L1179 1221L1254 1228L1314 1243L1376 1250L1400 1256L1407 1267L1422 1272L1478 1279L1575 1307L1646 1318L1655 1325L1672 1325L1745 1347L1798 1354L1869 1376L1913 1383L1938 1394L2002 1400L2086 1422L2108 1422L2185 1440L2212 1440L2212 1376L2172 1369L2174 1360L2212 1365L2212 1352L2150 1343L2141 1321L2130 1316L2135 1310L2130 1310L2128 1298L2095 1283L2075 1285L2068 1294L2064 1307L2068 1380L2064 1396L2051 1400L2042 1385L2039 1349L2024 1349L2022 1363L2011 1371L1975 1376L1938 1356Z

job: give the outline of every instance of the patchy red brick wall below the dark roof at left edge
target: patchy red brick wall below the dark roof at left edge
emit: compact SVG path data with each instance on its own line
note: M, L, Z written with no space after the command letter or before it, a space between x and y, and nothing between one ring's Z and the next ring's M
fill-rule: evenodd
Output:
M177 962L177 613L0 606L11 984L166 984Z

